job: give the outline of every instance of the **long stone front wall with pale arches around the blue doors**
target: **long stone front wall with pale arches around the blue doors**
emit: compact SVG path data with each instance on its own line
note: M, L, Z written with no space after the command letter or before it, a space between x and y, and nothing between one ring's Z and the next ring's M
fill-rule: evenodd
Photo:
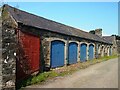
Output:
M51 42L54 40L60 40L65 43L65 65L67 65L67 49L68 49L68 44L70 42L75 42L78 44L78 58L77 61L80 62L80 45L82 43L87 44L87 60L89 56L89 45L93 44L94 45L94 58L99 58L101 56L107 55L107 49L106 46L109 46L107 44L103 44L100 42L94 42L82 38L77 38L77 37L72 37L72 36L67 36L63 34L58 34L55 32L50 32L42 29L37 29L37 28L32 28L32 27L27 27L27 26L21 26L21 30L24 32L28 32L38 35L40 37L41 41L41 63L42 63L42 68L44 70L45 67L49 68L50 67L50 50L51 50ZM99 53L97 52L97 45L100 46L100 51ZM101 47L103 46L103 47Z

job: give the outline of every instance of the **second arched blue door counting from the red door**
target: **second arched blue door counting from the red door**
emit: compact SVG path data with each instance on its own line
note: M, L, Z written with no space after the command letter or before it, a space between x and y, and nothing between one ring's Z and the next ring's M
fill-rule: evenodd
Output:
M68 46L68 63L77 63L77 44L74 42Z

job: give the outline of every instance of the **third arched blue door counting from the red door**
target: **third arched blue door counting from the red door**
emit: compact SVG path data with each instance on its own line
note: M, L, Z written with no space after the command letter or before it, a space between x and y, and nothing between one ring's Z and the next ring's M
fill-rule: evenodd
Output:
M87 60L87 45L85 43L80 46L80 60L81 62L85 62Z

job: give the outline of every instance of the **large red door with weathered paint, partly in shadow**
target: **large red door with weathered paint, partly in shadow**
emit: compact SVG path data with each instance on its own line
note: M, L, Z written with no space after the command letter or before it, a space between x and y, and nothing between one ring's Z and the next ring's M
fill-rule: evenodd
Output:
M17 79L22 79L40 70L40 39L21 31L18 37L20 58L17 61Z

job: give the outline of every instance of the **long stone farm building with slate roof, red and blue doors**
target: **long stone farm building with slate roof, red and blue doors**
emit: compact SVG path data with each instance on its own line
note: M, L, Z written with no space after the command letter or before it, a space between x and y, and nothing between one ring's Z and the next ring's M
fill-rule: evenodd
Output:
M91 34L9 5L3 5L2 19L4 83L14 82L15 73L21 80L34 72L113 53L113 43L99 35L101 29L96 30L98 35Z

